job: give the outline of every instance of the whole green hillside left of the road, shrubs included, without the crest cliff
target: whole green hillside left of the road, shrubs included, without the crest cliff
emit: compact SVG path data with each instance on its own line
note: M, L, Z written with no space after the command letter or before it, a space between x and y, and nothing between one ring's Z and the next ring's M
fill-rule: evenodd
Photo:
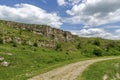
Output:
M24 24L9 23L0 21L0 80L24 80L85 57L120 55L120 41L75 35L72 35L72 41L63 41L62 37L56 41L53 37L13 27ZM39 43L44 46L39 46ZM46 46L48 43L54 46ZM2 65L3 62L9 65Z

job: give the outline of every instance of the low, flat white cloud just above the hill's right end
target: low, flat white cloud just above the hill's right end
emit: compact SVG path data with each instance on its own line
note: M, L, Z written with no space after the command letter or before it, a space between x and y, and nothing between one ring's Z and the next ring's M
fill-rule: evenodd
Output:
M105 39L113 39L117 40L120 39L120 35L116 35L110 32L105 31L104 29L99 28L89 28L89 29L82 29L82 30L71 30L72 34L83 36L83 37L101 37ZM116 31L115 33L120 33L120 30Z

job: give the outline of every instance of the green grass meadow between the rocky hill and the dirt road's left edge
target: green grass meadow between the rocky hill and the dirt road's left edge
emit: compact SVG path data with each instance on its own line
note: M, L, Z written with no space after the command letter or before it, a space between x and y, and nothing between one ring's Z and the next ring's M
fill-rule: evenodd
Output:
M58 52L25 45L13 47L12 44L0 44L0 56L10 63L8 67L0 66L0 80L26 80L39 73L84 58L79 52L66 54L65 51Z

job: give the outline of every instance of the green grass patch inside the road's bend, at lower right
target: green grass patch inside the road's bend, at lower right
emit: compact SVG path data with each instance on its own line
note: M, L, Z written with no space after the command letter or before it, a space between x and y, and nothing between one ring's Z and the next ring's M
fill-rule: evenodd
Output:
M105 75L107 80L120 80L117 73L120 75L120 59L102 61L89 66L78 80L103 80Z

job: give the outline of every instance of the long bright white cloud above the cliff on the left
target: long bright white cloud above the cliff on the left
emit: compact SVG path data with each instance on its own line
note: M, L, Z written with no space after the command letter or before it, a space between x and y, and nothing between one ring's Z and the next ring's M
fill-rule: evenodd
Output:
M62 25L61 18L56 13L48 13L30 4L16 4L14 7L0 5L0 19L29 24L47 24L56 28Z

